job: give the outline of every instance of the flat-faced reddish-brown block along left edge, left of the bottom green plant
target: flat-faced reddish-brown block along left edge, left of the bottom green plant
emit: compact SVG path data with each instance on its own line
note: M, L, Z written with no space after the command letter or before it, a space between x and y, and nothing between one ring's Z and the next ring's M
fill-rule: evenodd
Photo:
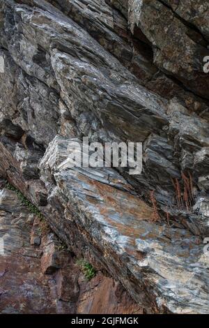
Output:
M30 243L33 215L14 191L0 191L0 313L59 313L56 283Z

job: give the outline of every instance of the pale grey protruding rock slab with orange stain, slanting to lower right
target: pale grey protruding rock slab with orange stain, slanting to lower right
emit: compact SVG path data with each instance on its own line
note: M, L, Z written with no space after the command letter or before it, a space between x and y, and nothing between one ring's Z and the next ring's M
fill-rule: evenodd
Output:
M152 209L114 171L65 168L67 148L68 140L56 138L40 162L48 207L59 199L63 219L77 226L95 258L118 276L139 304L151 311L156 297L161 311L167 304L172 312L199 312L201 301L207 312L208 291L202 279L207 280L209 262L201 241L185 229L150 222ZM56 184L46 177L54 177Z

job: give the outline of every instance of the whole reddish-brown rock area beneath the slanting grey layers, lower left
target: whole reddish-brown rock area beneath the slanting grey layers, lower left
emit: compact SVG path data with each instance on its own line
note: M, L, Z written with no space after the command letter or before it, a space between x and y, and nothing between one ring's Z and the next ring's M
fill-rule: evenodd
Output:
M37 223L38 218L21 204L14 191L1 189L0 313L143 311L112 278L98 273L92 281L86 281L70 253L52 232L41 230L40 222L37 234L42 237L42 244L31 246L30 231ZM45 253L49 254L50 241L56 244L50 253L56 263L50 263L53 270L48 266L45 275L41 263L47 262Z

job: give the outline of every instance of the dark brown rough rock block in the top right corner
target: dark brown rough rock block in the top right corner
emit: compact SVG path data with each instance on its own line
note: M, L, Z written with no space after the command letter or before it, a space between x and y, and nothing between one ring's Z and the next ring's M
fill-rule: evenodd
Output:
M173 6L171 5L173 3ZM203 73L203 57L208 56L207 36L209 6L204 1L130 0L129 21L140 27L153 45L154 62L164 72L178 78L185 87L208 98L208 75ZM184 2L184 5L183 5ZM165 6L166 3L168 6ZM176 9L172 9L172 7ZM169 7L171 5L171 7ZM185 10L185 8L187 8ZM190 13L189 13L190 12ZM199 17L196 20L192 17ZM150 26L152 21L152 27ZM205 24L204 24L205 22ZM194 24L192 29L189 23Z

